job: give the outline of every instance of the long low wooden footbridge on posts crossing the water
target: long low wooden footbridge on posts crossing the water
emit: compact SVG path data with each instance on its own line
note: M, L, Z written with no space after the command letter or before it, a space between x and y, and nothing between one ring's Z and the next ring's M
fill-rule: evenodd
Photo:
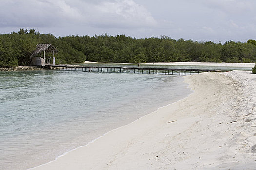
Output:
M185 69L185 68L128 68L128 67L93 67L79 65L47 65L49 69L84 72L108 72L108 73L137 73L137 74L167 74L167 75L187 75L200 72L221 72L212 69Z

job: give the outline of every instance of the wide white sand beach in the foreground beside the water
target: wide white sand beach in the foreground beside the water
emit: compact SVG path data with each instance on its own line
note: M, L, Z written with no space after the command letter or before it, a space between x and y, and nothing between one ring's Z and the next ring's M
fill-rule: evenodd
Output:
M33 170L256 169L256 75L185 77L189 97Z

